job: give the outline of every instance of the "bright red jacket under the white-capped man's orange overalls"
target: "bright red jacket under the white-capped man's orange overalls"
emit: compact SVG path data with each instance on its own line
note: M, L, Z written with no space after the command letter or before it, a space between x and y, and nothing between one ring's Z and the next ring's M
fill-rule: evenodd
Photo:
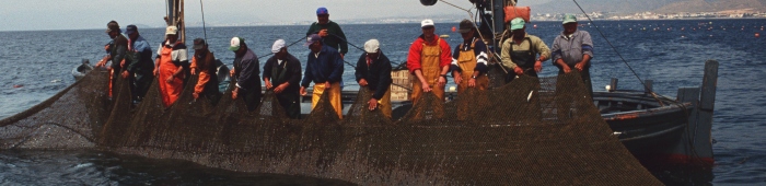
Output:
M439 68L450 66L452 62L452 51L450 50L450 44L448 44L446 40L439 39L439 36L434 34L433 42L426 45L437 45L436 40L441 40L438 44L439 47L441 47L441 60L439 61ZM409 54L407 55L407 69L409 69L409 73L415 73L415 70L420 70L422 67L420 66L420 55L422 54L423 43L426 43L426 39L423 38L423 35L420 35L417 39L415 39L415 42L413 42L413 45L409 46Z

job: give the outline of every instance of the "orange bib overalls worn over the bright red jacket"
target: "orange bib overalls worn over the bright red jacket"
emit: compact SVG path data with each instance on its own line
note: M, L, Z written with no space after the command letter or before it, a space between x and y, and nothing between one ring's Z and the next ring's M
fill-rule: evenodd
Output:
M437 85L439 82L439 74L441 74L441 68L439 63L441 61L441 38L437 39L433 46L429 46L426 43L422 44L422 50L420 51L420 71L422 72L422 78L426 79L433 94L440 100L444 100L444 86ZM419 80L413 80L413 104L420 98L422 94L422 86Z

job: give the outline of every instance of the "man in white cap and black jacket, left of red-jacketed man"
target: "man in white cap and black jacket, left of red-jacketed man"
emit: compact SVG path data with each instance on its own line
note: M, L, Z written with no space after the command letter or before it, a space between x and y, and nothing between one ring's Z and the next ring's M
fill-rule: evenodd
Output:
M391 118L391 60L380 49L378 39L364 43L364 54L357 61L357 82L372 91L372 98L368 101L368 109L380 108L384 116Z

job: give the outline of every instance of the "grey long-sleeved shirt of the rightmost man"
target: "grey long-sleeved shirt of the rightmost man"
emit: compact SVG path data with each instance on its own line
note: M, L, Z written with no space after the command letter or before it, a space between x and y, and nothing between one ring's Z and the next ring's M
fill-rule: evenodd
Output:
M593 58L593 40L591 40L591 34L585 31L577 31L570 36L561 33L554 39L554 46L550 50L555 66L558 66L556 63L558 59L564 59L567 65L574 66L582 61L583 55Z

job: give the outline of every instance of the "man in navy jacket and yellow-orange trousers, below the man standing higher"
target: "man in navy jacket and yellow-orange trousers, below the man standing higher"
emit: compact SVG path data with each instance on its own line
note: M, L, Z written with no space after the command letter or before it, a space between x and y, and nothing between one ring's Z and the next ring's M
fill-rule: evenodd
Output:
M311 98L311 109L316 107L322 94L327 92L329 103L343 119L340 103L340 79L344 74L344 60L338 50L323 45L318 34L309 35L304 46L309 46L311 53L306 61L306 69L301 82L301 95L305 95L305 89L314 82L314 91Z

